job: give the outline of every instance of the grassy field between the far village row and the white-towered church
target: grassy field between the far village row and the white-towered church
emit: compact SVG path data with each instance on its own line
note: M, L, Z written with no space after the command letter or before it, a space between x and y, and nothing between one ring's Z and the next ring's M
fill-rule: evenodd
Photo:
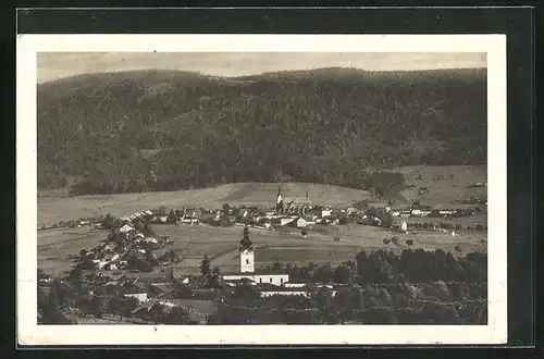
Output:
M156 225L157 235L169 235L171 247L178 250L183 260L174 267L176 275L198 274L205 255L211 258L212 265L223 272L238 268L237 245L242 239L240 227L211 227L208 225ZM102 240L106 232L89 230L62 232L60 230L38 233L38 268L53 275L71 268L69 255L76 255L82 248L91 248ZM333 238L338 236L339 242ZM384 245L384 238L397 236L399 246ZM468 251L485 251L485 233L459 233L450 237L441 232L421 231L409 234L392 233L385 228L349 224L343 226L317 227L302 238L298 231L280 234L269 231L250 231L256 247L257 267L280 262L307 264L309 262L330 262L336 265L353 260L361 249L367 251L387 249L399 253L406 240L412 239L412 248L432 250L442 248L454 255ZM482 239L484 239L482 242ZM461 252L454 248L459 246ZM159 270L159 269L158 269ZM150 274L153 276L153 274Z

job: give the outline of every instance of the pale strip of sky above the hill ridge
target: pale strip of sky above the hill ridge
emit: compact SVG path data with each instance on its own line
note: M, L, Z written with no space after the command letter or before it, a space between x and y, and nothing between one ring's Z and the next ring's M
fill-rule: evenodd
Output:
M475 52L41 52L38 53L38 83L86 73L151 69L195 71L212 76L245 76L319 67L368 71L486 67L486 55Z

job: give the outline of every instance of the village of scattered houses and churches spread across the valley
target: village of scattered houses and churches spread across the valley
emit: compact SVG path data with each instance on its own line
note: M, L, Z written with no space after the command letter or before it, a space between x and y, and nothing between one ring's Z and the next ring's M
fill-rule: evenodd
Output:
M299 231L299 236L304 239L317 226L342 226L356 223L399 233L408 233L412 228L424 226L425 230L445 232L455 237L455 231L458 227L432 222L411 222L408 225L406 220L470 216L479 211L481 209L477 206L433 209L412 203L409 208L394 208L386 202L362 202L345 208L323 207L313 205L308 191L304 198L284 198L279 188L275 206L270 208L231 207L225 203L219 210L201 208L169 210L161 207L146 209L120 219L107 214L98 219L69 222L70 226L92 226L97 231L104 231L107 235L103 243L94 248L82 249L78 255L72 256L76 264L66 281L75 278L79 290L78 296L83 295L87 298L85 305L74 305L74 307L79 307L79 309L74 309L79 312L78 315L85 317L98 310L100 311L98 317L101 318L101 311L108 312L106 309L108 306L103 304L103 300L111 302L113 297L118 307L125 300L125 306L129 308L129 311L124 312L126 318L150 320L149 315L156 307L162 308L161 315L163 317L168 317L168 313L178 315L178 310L183 308L183 321L207 324L212 321L210 318L213 318L215 307L212 304L218 300L224 302L228 300L225 298L239 296L240 290L252 290L254 297L261 299L277 296L309 298L316 290L326 288L334 297L336 290L346 285L346 283L338 283L345 281L335 283L333 280L311 282L293 278L289 277L289 269L277 263L256 268L257 248L251 243L250 230L254 231L251 236L259 236L259 231L285 231L286 228L292 232ZM175 238L154 234L151 225L157 227L162 224L239 226L239 269L223 273L220 268L212 267L208 256L203 256L200 263L201 275L180 273L174 275L172 267L182 258L172 247ZM483 231L486 227L482 226L480 230ZM339 242L341 238L336 236L332 240ZM411 243L407 240L405 246L409 247ZM384 244L386 244L385 239ZM398 242L396 244L400 245ZM157 273L159 274L149 275ZM53 282L59 284L41 271L38 275L38 287L46 293L51 290ZM97 304L92 306L92 302ZM195 306L191 307L191 304ZM114 305L109 306L113 306L110 312L119 312ZM97 314L94 315L97 317Z

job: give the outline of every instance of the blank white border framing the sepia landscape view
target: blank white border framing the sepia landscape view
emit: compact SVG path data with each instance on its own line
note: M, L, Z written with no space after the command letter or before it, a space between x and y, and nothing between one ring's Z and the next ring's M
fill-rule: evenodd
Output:
M37 325L37 52L486 52L489 324ZM17 343L20 345L505 344L506 35L21 35L17 90ZM24 214L23 214L24 213Z

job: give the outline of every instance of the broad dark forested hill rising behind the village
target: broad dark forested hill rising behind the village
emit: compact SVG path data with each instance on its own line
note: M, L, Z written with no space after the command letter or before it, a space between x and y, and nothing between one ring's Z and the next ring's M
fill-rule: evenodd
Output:
M481 164L485 147L485 70L146 71L38 85L40 188L169 190L289 176L361 188L364 169Z

